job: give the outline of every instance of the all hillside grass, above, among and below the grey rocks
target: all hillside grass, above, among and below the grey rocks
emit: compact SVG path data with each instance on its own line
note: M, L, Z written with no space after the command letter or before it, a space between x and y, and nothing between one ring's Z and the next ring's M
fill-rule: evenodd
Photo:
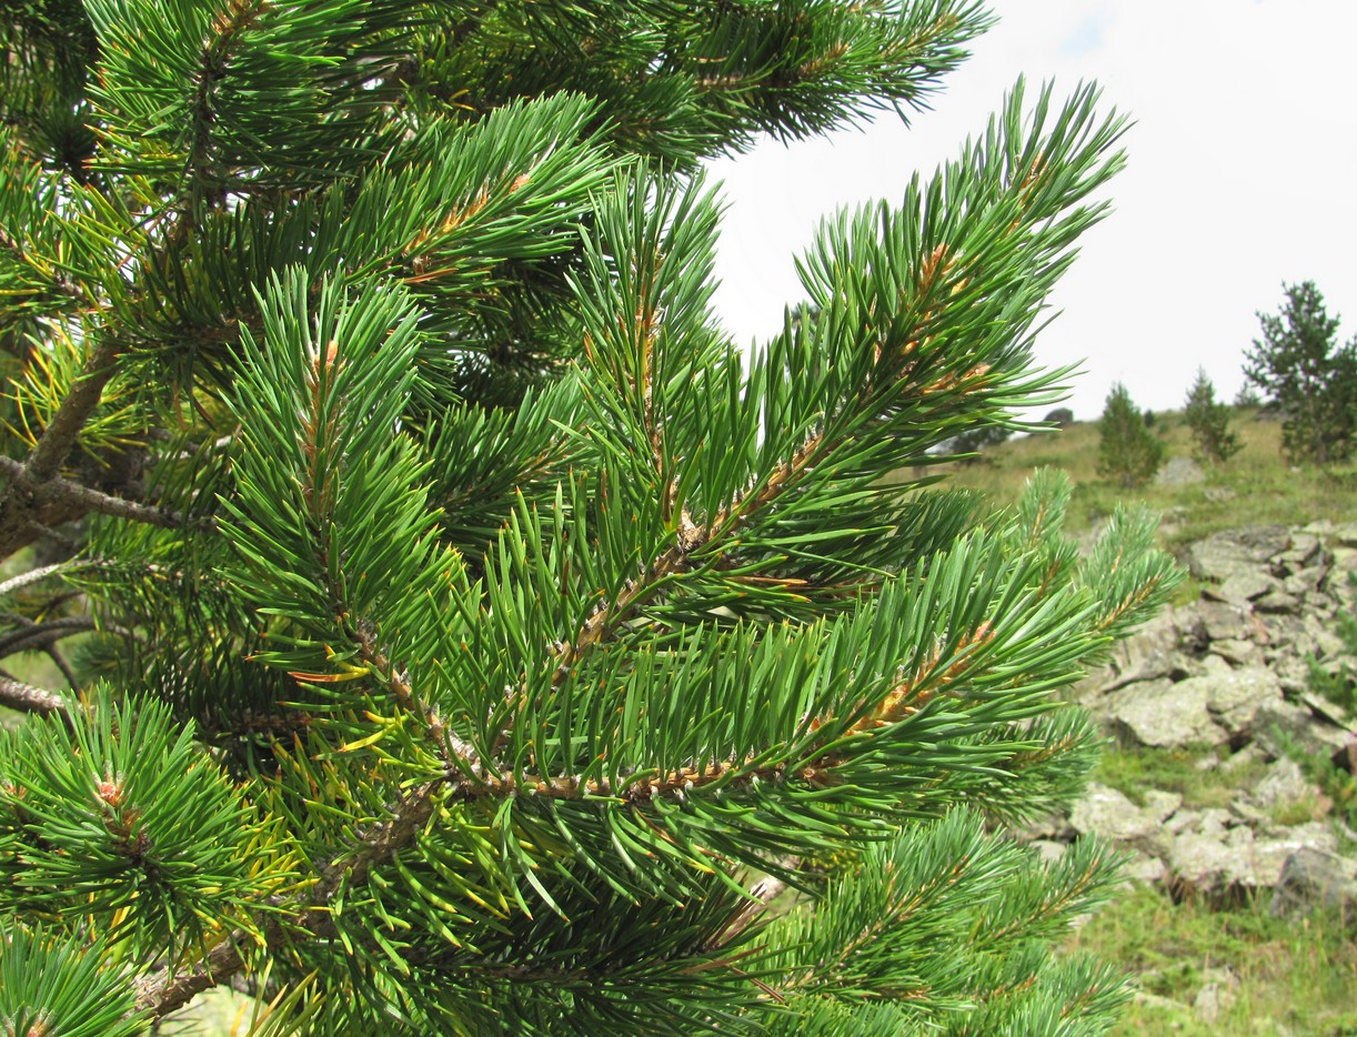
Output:
M1155 432L1168 459L1190 459L1191 436L1177 413L1156 414ZM1096 474L1096 422L1027 436L989 448L970 464L949 466L954 485L1008 504L1037 467L1069 472L1073 497L1069 532L1091 533L1121 501L1144 501L1163 516L1160 540L1171 551L1219 529L1254 524L1303 525L1316 518L1357 521L1357 464L1331 471L1291 466L1281 455L1281 428L1257 411L1236 410L1232 430L1243 449L1223 464L1202 464L1200 482L1163 479L1126 491ZM1194 597L1187 585L1182 596ZM1162 772L1163 753L1145 759L1109 748L1098 779L1121 785L1128 768L1151 767L1140 779L1164 786L1174 778L1186 798L1223 790L1208 787L1219 774L1177 761ZM1153 757L1153 759L1151 759ZM1170 768L1172 770L1172 768ZM1242 778L1242 776L1240 776ZM1229 798L1228 795L1224 798ZM1352 847L1349 851L1354 851ZM1274 919L1267 904L1220 909L1163 889L1136 886L1118 897L1071 939L1136 975L1143 991L1115 1034L1357 1034L1357 942L1353 919L1316 913L1300 923Z

